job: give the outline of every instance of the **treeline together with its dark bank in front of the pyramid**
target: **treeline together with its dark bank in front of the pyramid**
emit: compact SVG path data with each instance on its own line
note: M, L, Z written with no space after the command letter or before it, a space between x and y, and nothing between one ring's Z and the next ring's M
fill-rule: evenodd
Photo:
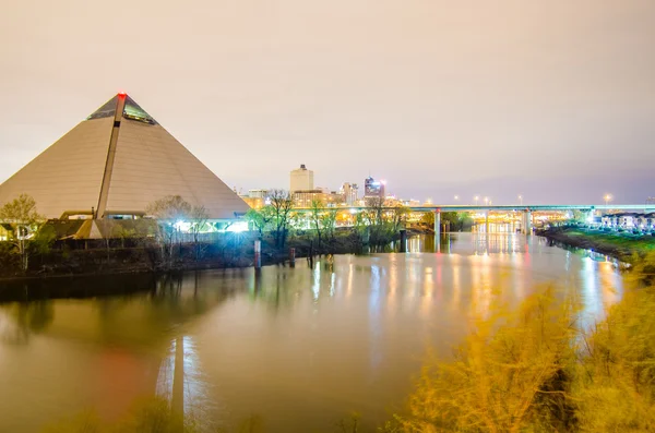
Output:
M104 238L58 239L56 226L44 224L34 200L21 195L0 208L9 232L9 240L0 242L0 277L245 267L253 264L254 240L262 242L266 265L287 260L289 248L302 257L359 252L365 237L389 243L401 224L400 217L389 220L371 211L355 229L337 229L334 211L314 203L312 230L300 227L291 207L290 195L277 191L272 205L248 214L253 231L211 232L203 207L166 196L148 206L153 219L97 219L93 224Z

